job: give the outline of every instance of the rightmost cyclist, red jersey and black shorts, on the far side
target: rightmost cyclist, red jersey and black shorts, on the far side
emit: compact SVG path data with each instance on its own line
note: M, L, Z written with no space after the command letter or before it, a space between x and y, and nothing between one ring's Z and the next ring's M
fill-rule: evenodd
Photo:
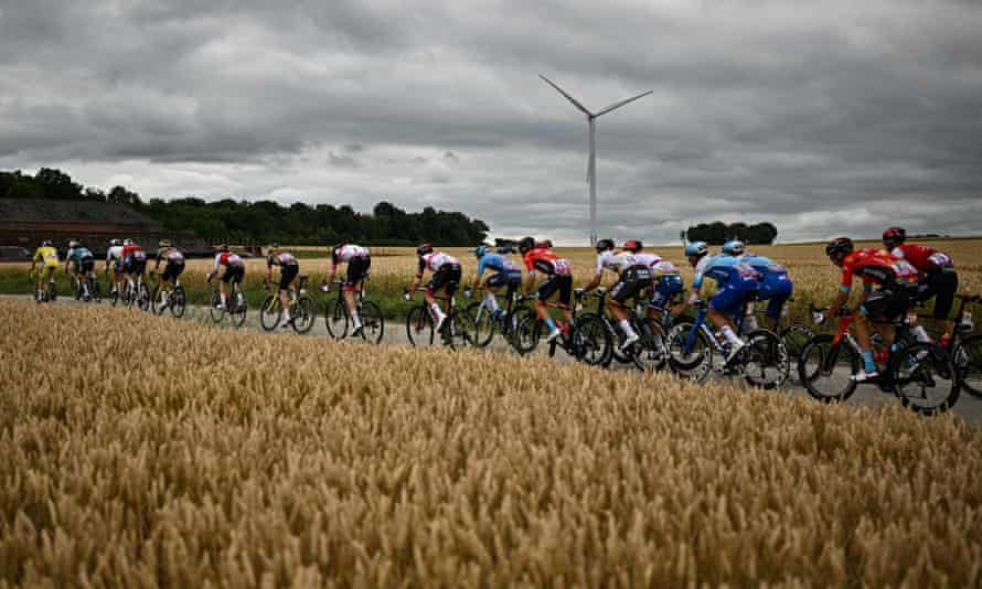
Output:
M954 303L954 293L958 292L958 272L954 271L954 263L943 251L906 242L907 232L901 227L890 227L883 232L884 248L894 256L907 260L920 272L917 300L927 302L931 297L935 298L933 314L944 329L941 345L947 346L953 330L948 315Z

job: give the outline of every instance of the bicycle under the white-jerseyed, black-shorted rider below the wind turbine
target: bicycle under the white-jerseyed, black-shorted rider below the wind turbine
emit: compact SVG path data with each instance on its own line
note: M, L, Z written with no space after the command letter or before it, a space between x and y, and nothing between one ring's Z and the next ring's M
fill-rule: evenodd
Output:
M597 298L597 312L584 313L583 317L596 315L610 332L611 342L622 342L623 335L616 320L606 312L608 310L607 290L599 288L594 296ZM638 341L626 351L621 351L619 345L611 345L601 366L607 367L616 360L620 364L633 364L641 371L658 371L664 367L668 362L664 345L665 332L657 319L641 314L639 308L647 309L647 306L636 301L634 306L628 309L628 323L638 334Z

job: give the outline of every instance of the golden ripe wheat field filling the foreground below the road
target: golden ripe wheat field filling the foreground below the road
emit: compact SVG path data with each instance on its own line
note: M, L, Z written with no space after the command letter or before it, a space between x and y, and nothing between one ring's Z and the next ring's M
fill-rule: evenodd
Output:
M982 432L0 301L0 587L979 586Z

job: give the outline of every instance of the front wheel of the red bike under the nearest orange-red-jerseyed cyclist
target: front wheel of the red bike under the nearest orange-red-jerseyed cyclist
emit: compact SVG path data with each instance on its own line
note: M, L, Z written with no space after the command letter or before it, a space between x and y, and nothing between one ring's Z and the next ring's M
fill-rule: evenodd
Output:
M808 394L823 401L842 401L856 390L853 375L860 372L858 352L843 340L837 345L829 334L819 334L804 344L798 357L798 378Z

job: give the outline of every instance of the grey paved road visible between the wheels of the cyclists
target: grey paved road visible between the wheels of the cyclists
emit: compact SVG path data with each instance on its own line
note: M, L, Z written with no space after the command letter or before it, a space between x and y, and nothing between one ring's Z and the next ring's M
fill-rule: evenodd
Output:
M4 298L23 299L25 297L6 296ZM82 303L76 302L73 299L62 297L58 299L56 304L82 304ZM108 303L106 301L104 301L102 304L108 306ZM318 311L321 312L322 310L319 309ZM161 320L164 320L166 318L168 318L168 315L164 315L164 318L161 318ZM209 317L209 310L204 307L189 306L183 320L211 323L211 318ZM223 324L230 325L228 320L225 319ZM246 323L245 323L245 325L243 325L242 329L246 329L249 331L263 332L263 328L259 325L259 314L256 310L254 310L254 309L249 310L249 312L246 317ZM287 330L277 329L276 332L289 333L289 334L292 334L296 336L292 329L287 329ZM320 317L318 317L318 320L314 322L313 329L311 329L310 332L308 332L307 334L305 334L302 336L305 336L305 338L329 338L328 330L324 325L324 320L323 320L322 314ZM408 339L406 336L405 320L386 321L382 343L384 345L405 345L405 346L409 345ZM365 345L367 346L370 344L365 344ZM541 345L538 347L538 350L536 350L536 352L534 352L534 353L545 354L544 349L545 349L545 346ZM502 338L500 335L494 336L494 340L488 346L488 350L493 351L495 353L502 353L502 354L514 353L511 350L511 347L502 340ZM569 356L567 356L566 353L563 352L562 350L558 350L556 352L556 356L554 360L559 363L573 362L573 360ZM600 370L600 368L598 368L598 370ZM613 362L613 363L611 363L610 370L636 371L637 368L633 365L622 365L622 364L618 364L617 362ZM792 365L792 378L794 376L793 373L794 373L794 367ZM726 377L726 376L716 375L716 374L712 374L709 376L711 381L712 379L726 379L726 378L732 378L732 382L734 382L735 384L738 383L741 386L749 386L749 385L746 385L743 377ZM804 389L804 387L792 383L792 379L789 379L788 384L786 384L781 390L784 394L800 395L803 397L811 398L811 397L809 397L808 392ZM818 401L815 401L815 403L818 403ZM879 388L877 388L876 386L861 385L856 389L856 392L853 394L853 396L850 397L850 399L846 403L848 405L878 406L878 405L884 405L884 404L898 404L899 405L900 401L896 396L890 395L890 394L885 394L885 393L880 392ZM951 409L951 411L956 416L963 419L969 425L972 425L972 426L982 425L982 399L972 397L964 390L962 390L961 395L959 395L958 403Z

